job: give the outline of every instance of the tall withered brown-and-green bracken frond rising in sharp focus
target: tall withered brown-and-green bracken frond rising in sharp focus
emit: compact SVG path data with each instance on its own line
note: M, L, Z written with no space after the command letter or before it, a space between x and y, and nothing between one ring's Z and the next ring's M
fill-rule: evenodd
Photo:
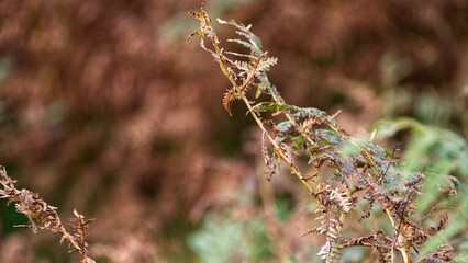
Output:
M372 141L353 138L335 122L339 112L327 115L317 108L287 104L267 77L267 71L277 59L263 50L260 39L250 32L250 25L218 20L220 24L235 27L243 37L229 42L248 49L245 54L232 53L221 48L211 19L203 9L189 14L200 20L200 27L189 38L201 37L201 48L214 57L232 85L225 93L223 106L232 115L231 104L236 100L243 101L248 114L261 129L261 155L269 169L267 179L278 173L279 162L282 161L316 203L320 226L304 235L325 236L326 242L317 255L326 263L343 262L343 249L363 245L377 250L380 262L395 262L397 251L405 263L412 262L412 254L419 253L419 249L441 231L448 220L444 217L436 228L423 228L415 222L412 203L420 194L422 174L403 178L397 169L401 163L395 160L394 150L390 152ZM211 49L205 46L203 38L211 42ZM257 90L253 100L247 98L252 88ZM257 101L260 95L268 99ZM276 124L267 113L271 113L275 119L282 117L283 121ZM300 156L309 159L314 171L304 173L298 168L296 160ZM324 163L334 169L335 176L324 179L326 183L315 183L313 180L320 176L320 168ZM332 188L332 183L339 187ZM370 236L350 239L342 237L346 215L357 210L357 192L364 193L363 199L369 202L369 208L360 213L361 219L369 218L372 205L379 204L391 222L392 235L376 230ZM441 249L427 256L438 262L449 262L452 251ZM427 256L422 255L420 262L426 262Z

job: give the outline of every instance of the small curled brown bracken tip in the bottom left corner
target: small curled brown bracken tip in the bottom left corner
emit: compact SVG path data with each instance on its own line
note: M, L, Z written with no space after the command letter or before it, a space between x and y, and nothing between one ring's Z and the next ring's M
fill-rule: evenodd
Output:
M57 207L48 205L36 193L25 188L18 190L14 185L16 181L8 176L4 167L0 167L0 183L3 186L3 190L0 190L0 198L8 199L8 205L12 202L15 203L16 210L25 215L31 221L31 225L16 225L15 227L31 228L34 233L37 232L37 229L60 233L60 243L67 242L71 249L69 252L78 252L82 258L81 263L94 263L88 255L89 244L86 241L89 235L89 224L94 221L94 219L85 220L85 217L75 209L74 215L76 218L70 218L70 221L76 221L77 224L69 224L71 231L67 231L58 217Z

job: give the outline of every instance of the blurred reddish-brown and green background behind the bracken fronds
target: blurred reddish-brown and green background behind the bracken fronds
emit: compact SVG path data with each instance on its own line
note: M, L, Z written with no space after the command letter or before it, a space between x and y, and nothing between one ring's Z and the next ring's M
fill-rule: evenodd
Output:
M409 116L468 136L468 2L205 0L253 24L290 104L357 137ZM194 0L0 1L0 163L66 221L97 218L97 262L316 262L315 207L265 180L255 124L198 39ZM222 45L234 37L214 24ZM227 48L238 48L232 44ZM261 202L272 191L275 209ZM79 262L0 203L0 262ZM368 225L366 225L368 224ZM364 227L372 228L371 222ZM349 250L346 262L369 251ZM370 261L370 260L368 260Z

